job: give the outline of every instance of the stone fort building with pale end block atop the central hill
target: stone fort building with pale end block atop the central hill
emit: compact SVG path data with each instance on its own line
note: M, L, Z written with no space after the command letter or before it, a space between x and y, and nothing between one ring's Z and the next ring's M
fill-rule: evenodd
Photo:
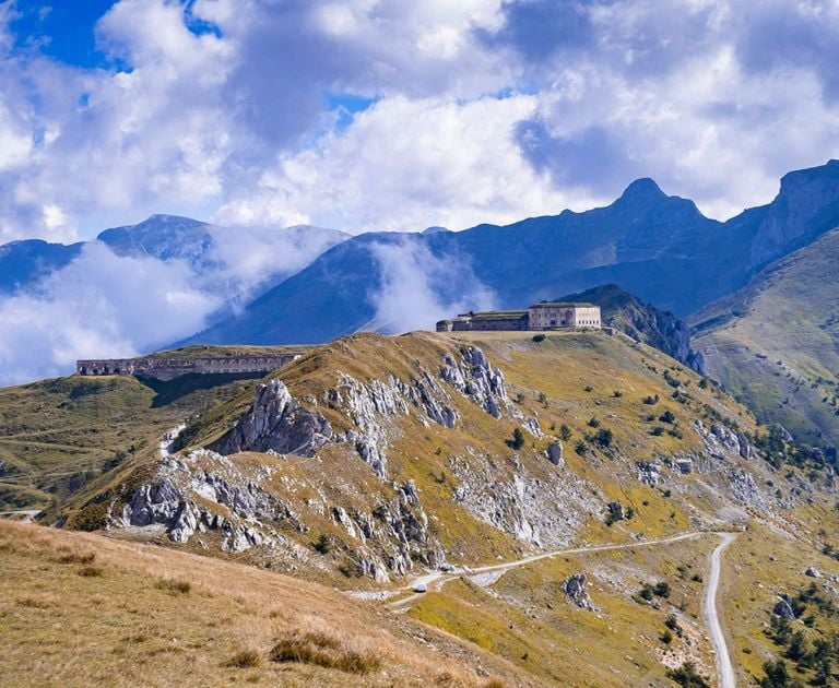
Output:
M440 320L437 332L579 330L600 327L600 306L545 301L533 304L528 310L462 313L451 320Z

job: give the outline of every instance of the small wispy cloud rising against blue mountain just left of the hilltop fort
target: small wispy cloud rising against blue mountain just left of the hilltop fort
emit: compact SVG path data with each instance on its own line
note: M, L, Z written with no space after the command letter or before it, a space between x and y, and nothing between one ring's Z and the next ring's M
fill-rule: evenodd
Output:
M435 256L417 240L378 242L371 247L381 282L367 295L376 308L370 329L406 332L427 329L452 312L493 308L497 297L456 257Z

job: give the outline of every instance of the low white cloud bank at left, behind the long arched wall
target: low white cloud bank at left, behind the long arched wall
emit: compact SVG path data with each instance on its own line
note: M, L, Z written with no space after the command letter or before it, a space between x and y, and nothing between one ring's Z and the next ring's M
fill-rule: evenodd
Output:
M185 263L87 245L37 290L0 300L0 384L66 375L76 358L130 356L200 330L221 305Z

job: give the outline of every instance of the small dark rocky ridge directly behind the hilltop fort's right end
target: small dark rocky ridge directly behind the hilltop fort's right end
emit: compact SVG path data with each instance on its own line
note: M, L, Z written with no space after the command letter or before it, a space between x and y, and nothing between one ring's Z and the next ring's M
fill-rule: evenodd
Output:
M687 324L671 312L640 301L616 284L568 294L555 300L596 304L604 325L654 346L699 373L705 372L701 356L692 348Z

